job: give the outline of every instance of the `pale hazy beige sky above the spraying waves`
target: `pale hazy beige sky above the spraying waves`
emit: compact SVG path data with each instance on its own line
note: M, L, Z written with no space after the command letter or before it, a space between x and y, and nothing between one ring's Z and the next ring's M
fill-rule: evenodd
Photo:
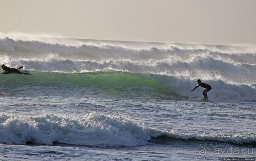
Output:
M0 32L256 46L256 0L0 0Z

